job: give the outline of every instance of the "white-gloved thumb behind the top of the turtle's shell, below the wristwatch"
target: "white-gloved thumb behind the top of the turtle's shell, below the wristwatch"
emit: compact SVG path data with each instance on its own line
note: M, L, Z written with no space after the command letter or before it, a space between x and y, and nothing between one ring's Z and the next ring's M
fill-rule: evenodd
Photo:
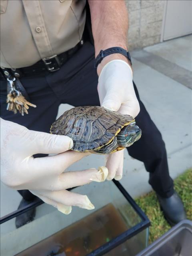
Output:
M107 108L112 111L118 111L121 106L120 97L117 95L117 92L108 90L103 102L102 107Z

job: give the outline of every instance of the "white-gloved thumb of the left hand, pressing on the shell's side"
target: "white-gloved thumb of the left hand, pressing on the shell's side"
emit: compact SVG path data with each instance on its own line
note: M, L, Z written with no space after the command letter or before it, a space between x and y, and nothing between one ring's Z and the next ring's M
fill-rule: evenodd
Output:
M33 154L58 154L70 150L73 140L68 136L30 131Z

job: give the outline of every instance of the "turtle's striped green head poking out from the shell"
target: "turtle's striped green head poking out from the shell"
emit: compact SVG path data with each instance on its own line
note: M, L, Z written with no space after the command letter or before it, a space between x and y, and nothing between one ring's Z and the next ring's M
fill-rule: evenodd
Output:
M135 125L130 124L127 126L124 126L122 130L119 132L117 139L118 139L118 145L129 147L134 142L139 140L141 137L141 129Z

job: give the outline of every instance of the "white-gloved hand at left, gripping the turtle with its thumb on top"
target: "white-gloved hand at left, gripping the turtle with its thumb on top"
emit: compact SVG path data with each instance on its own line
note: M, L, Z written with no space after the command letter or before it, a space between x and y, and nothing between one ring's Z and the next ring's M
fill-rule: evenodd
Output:
M16 190L28 189L47 204L69 214L72 206L94 209L86 195L66 189L91 181L104 181L106 167L64 172L68 166L89 153L70 150L73 141L67 136L35 132L1 119L1 180ZM70 151L68 151L70 150ZM57 154L33 158L34 154Z

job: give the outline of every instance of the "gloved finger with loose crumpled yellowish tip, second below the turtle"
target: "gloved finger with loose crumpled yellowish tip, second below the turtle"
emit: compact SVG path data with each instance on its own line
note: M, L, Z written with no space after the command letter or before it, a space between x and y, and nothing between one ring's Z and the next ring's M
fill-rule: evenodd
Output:
M106 180L107 176L108 169L104 166L99 167L99 170L92 168L83 171L64 172L60 174L57 182L51 187L52 190L63 190L76 186L82 186L92 181L103 182Z

